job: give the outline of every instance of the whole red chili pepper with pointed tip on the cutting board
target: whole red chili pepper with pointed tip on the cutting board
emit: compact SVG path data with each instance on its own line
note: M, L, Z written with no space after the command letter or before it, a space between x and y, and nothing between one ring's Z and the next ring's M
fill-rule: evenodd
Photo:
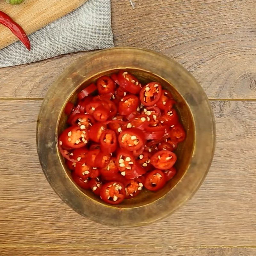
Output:
M17 36L20 41L28 48L28 51L30 51L30 42L24 30L20 27L19 24L12 20L9 15L2 11L0 11L0 24L3 24L9 28L12 33Z

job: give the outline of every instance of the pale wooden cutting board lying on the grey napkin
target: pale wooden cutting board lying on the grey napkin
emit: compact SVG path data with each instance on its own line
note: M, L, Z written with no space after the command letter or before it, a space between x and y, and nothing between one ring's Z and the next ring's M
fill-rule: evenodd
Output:
M74 11L87 0L25 0L20 5L1 1L1 11L7 13L24 29L27 35L43 28L46 24ZM16 42L18 38L6 27L0 26L0 49Z

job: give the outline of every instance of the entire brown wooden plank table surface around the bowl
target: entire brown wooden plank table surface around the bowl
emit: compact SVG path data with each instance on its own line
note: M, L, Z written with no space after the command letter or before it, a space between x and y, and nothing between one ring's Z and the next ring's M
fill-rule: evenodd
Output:
M2 68L1 256L256 255L256 2L137 0L134 6L112 0L116 46L172 57L211 101L217 143L206 180L180 210L145 227L110 228L81 217L45 179L35 131L49 86L88 53Z

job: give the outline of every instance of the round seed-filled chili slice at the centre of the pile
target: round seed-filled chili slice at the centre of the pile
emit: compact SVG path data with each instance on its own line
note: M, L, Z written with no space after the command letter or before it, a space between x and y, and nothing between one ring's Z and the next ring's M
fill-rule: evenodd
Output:
M137 128L126 129L119 134L118 141L121 148L134 151L145 145L145 134Z

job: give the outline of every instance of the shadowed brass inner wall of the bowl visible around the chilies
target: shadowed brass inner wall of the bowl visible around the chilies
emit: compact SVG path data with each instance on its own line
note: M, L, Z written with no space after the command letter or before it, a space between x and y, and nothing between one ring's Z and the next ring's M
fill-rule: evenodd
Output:
M136 196L135 198L124 200L122 204L122 208L135 208L140 207L146 204L150 204L159 198L166 195L167 192L169 192L172 188L175 187L175 185L179 182L179 180L182 178L182 176L186 173L192 154L193 154L193 148L194 148L194 141L195 141L195 127L194 127L194 121L193 117L190 111L190 108L188 107L186 101L184 98L180 95L180 93L170 84L168 81L164 80L162 77L157 76L155 74L149 73L145 70L135 69L135 68L126 68L128 72L132 73L134 76L136 76L142 84L146 84L148 82L159 82L162 84L163 88L165 90L168 90L172 93L173 98L176 100L177 104L175 105L176 110L179 113L180 120L186 130L186 140L178 145L178 148L176 149L175 153L177 154L177 162L175 164L175 167L177 168L177 174L174 176L172 180L170 180L164 188L157 192L151 192L148 190L142 190L142 192ZM93 77L89 77L88 79L84 80L83 83L78 84L73 93L70 95L67 101L76 102L76 94L80 92L82 89L84 89L86 86L91 84L92 82L95 82L96 79L98 79L100 76L103 75L110 75L114 72L117 72L118 69L112 69L108 70L103 73L99 73ZM184 84L184 86L186 86ZM63 131L63 129L66 128L66 121L67 116L63 111L60 113L59 123L58 123L58 129L57 129L57 136ZM63 157L60 156L60 161L62 162L62 166L64 167L64 171L67 172L69 179L73 182L70 171L65 165L65 161ZM79 188L74 182L73 185ZM84 190L82 188L79 188L84 192L84 194L88 197L90 197L92 200L97 201L100 204L105 204L98 196L95 196L90 190ZM113 205L111 207L120 207L120 205Z

